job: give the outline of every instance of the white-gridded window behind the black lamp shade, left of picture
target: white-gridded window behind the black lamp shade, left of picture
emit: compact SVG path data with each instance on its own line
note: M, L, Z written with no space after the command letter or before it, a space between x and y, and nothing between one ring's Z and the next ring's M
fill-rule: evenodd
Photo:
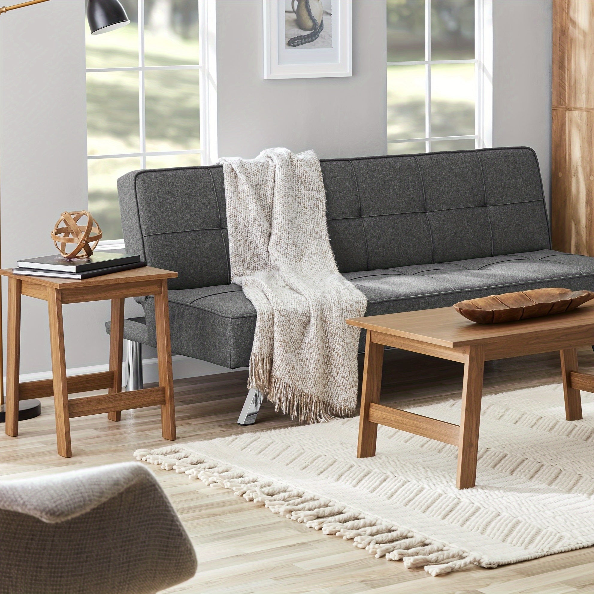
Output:
M198 0L120 0L131 23L87 30L89 210L103 239L122 238L117 179L200 165Z

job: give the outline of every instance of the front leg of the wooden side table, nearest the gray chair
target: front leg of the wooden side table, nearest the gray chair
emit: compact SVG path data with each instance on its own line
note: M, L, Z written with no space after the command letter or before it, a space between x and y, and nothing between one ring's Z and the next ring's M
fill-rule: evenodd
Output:
M56 409L56 438L58 454L72 456L70 445L70 416L68 414L68 385L66 354L64 351L64 323L62 295L59 289L48 288L49 339L52 345L53 404Z

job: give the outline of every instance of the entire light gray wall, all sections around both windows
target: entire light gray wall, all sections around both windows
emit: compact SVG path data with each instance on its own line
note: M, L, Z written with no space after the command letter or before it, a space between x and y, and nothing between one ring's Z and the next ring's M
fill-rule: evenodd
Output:
M386 152L383 0L353 2L353 77L262 78L261 0L217 0L219 154ZM0 17L2 264L50 253L61 211L86 206L84 0ZM549 186L551 1L494 0L494 142L538 152ZM27 233L15 225L26 220ZM128 304L128 314L135 304ZM105 364L109 305L67 305L70 367ZM50 368L46 307L23 300L21 371ZM149 356L152 353L149 353Z

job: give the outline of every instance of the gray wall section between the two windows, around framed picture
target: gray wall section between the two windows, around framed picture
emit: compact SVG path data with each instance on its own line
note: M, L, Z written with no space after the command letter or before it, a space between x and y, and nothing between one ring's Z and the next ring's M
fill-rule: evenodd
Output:
M262 0L217 0L219 155L386 153L386 2L353 2L353 75L263 80Z

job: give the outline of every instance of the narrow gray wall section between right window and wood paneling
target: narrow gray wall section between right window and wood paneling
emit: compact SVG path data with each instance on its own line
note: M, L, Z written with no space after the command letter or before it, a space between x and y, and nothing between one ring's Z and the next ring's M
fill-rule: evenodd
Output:
M551 201L552 0L493 0L493 144L536 150Z

